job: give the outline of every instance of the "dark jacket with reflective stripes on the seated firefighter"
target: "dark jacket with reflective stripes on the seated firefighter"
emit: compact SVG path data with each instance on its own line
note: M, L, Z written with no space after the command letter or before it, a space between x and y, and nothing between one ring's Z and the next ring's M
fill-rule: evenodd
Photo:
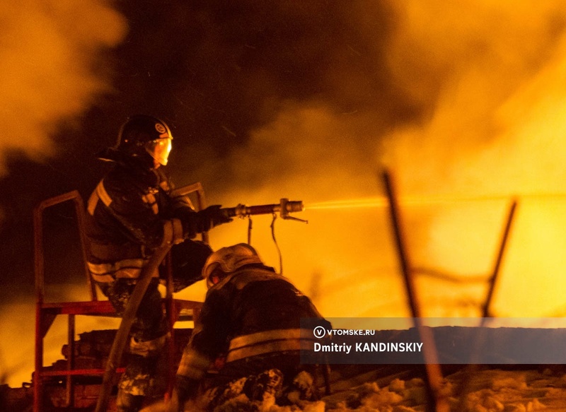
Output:
M117 161L100 180L87 205L88 268L93 279L137 278L161 245L194 237L180 220L197 215L187 196L171 196L171 184L159 170L134 161ZM155 274L157 276L157 274Z

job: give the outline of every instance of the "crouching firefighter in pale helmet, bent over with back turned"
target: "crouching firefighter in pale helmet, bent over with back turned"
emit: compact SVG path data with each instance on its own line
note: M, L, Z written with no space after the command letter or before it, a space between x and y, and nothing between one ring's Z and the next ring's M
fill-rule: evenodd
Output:
M313 333L301 329L300 319L328 322L311 300L244 243L211 254L202 276L208 292L171 408L183 411L193 401L193 408L213 411L241 394L255 404L270 396L279 405L318 399L315 362L301 365Z

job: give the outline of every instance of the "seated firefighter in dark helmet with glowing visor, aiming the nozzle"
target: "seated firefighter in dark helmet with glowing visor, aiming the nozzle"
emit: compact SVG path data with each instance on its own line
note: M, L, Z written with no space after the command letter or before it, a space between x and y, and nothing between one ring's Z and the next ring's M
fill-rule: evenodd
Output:
M177 292L200 280L204 261L212 253L208 245L192 239L231 220L218 205L195 211L187 196L173 195L161 169L172 140L165 122L139 114L122 125L117 144L99 155L113 167L88 199L88 269L118 314L125 311L141 269L157 247L172 245ZM158 354L166 341L160 273L153 276L132 326L126 371L118 385L120 412L138 411L151 393Z

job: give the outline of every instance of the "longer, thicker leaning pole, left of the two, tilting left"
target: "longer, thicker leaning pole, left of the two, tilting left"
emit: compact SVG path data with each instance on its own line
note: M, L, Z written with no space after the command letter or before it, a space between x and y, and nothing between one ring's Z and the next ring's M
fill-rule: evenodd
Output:
M399 262L403 279L405 281L405 289L407 291L410 310L415 320L415 327L422 340L422 352L424 356L424 367L427 372L427 391L429 399L432 403L431 411L449 412L449 404L445 396L441 394L442 371L438 362L437 348L434 343L434 336L431 329L425 328L421 322L420 304L417 298L417 289L412 277L411 266L408 254L405 249L405 241L401 230L399 208L397 197L391 183L391 177L387 171L383 172L383 182L385 184L387 198L389 201L389 211L391 213L391 223L393 224L393 232L395 234L395 245L399 254Z

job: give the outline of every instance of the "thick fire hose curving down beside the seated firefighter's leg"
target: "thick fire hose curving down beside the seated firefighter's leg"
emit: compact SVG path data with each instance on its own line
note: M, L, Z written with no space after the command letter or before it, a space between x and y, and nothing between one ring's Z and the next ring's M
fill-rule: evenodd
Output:
M110 400L110 392L112 389L112 381L114 380L114 374L116 372L116 367L122 358L122 353L124 353L124 348L126 347L127 339L129 336L129 331L132 329L132 324L136 317L137 309L144 298L146 290L151 281L151 275L157 270L161 261L166 257L167 253L171 249L171 245L166 245L156 249L154 254L149 259L147 266L141 270L139 278L137 280L136 286L132 296L128 300L126 305L126 310L122 316L122 322L120 322L120 328L118 329L114 342L112 343L112 349L110 349L110 355L108 355L108 361L106 363L106 369L104 372L103 383L100 387L100 394L98 394L98 402L96 404L96 412L106 412L108 411L108 401Z

